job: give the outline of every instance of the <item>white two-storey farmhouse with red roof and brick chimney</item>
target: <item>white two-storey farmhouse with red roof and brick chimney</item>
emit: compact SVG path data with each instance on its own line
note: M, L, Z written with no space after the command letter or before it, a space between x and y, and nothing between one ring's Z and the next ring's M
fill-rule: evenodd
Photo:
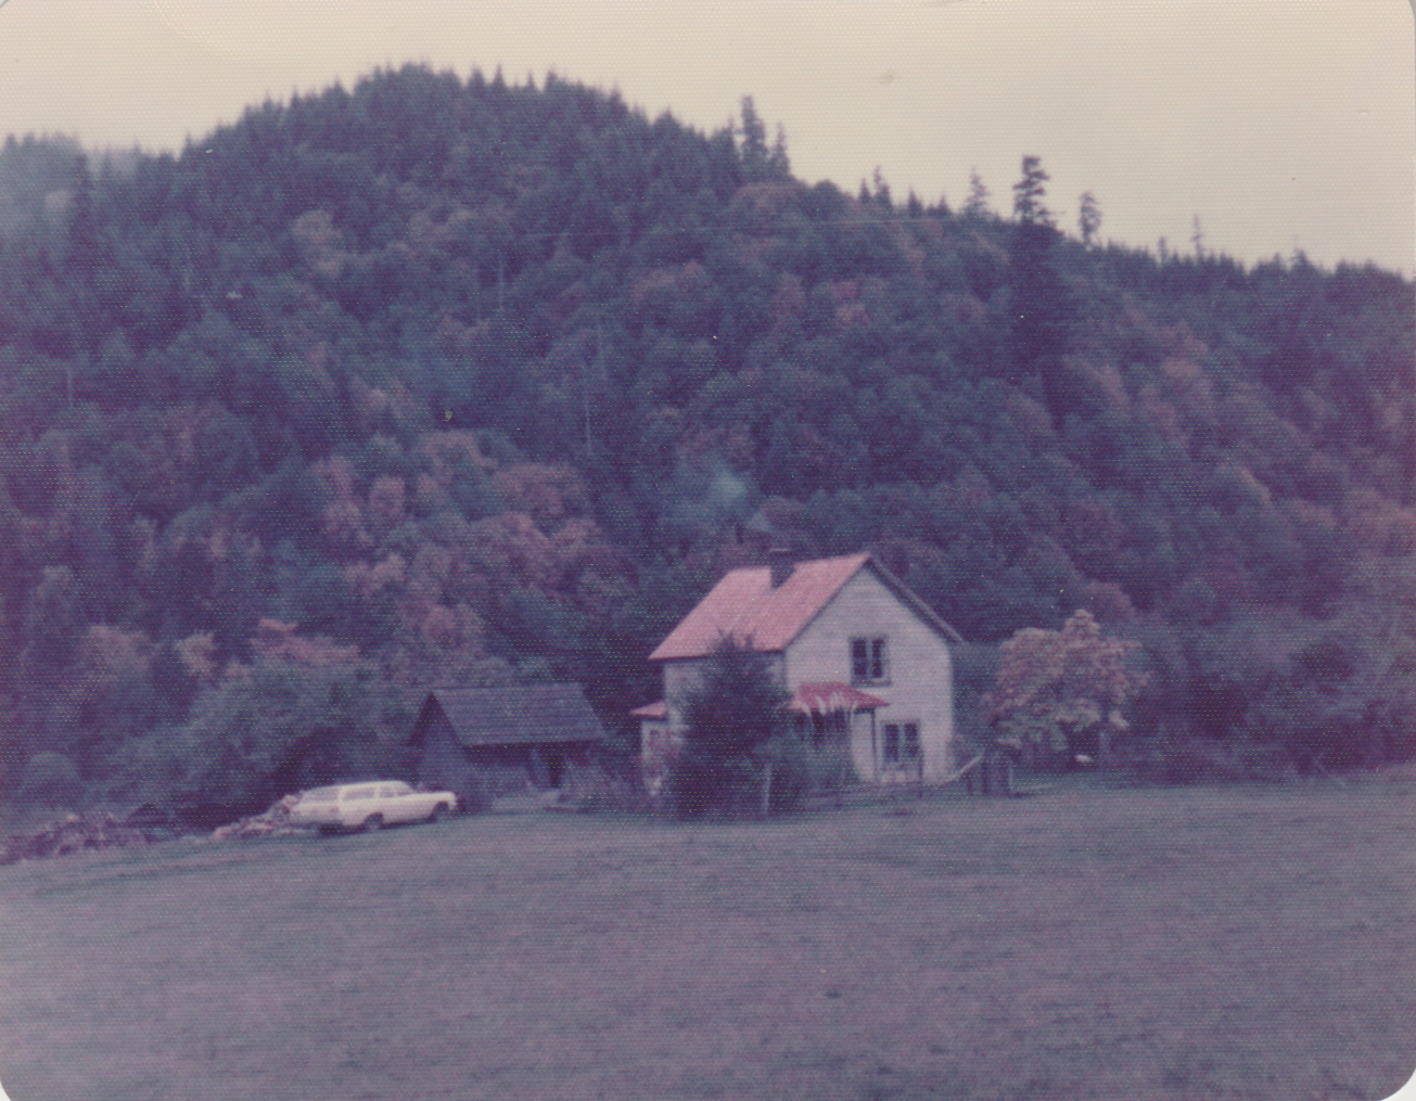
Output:
M867 553L735 569L650 654L664 698L633 712L654 788L683 730L683 705L724 638L770 655L797 729L850 749L867 781L936 780L953 766L959 633Z

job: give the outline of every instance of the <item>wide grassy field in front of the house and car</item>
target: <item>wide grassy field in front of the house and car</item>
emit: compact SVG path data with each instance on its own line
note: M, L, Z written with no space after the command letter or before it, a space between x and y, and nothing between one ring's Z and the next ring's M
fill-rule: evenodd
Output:
M1385 1098L1416 787L524 814L0 867L11 1101Z

